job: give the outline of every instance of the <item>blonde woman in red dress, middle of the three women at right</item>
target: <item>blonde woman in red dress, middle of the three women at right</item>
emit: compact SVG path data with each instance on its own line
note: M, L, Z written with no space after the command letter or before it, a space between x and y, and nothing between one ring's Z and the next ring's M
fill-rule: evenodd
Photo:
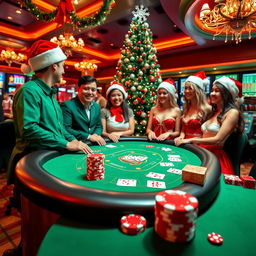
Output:
M184 111L181 116L181 133L175 143L181 139L201 137L201 125L207 119L212 107L207 103L204 87L209 85L205 72L200 71L189 76L184 88Z

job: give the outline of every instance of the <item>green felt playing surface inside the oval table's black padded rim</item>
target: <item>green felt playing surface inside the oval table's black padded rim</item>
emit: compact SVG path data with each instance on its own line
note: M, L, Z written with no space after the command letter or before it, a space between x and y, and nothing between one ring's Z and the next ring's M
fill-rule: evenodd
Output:
M84 179L86 156L65 154L47 161L43 168L61 180L108 191L154 192L163 188L147 187L150 180L165 183L171 189L183 183L181 175L168 172L170 168L181 170L186 164L201 165L200 158L193 152L161 143L143 141L123 141L108 143L106 146L92 146L92 149L105 155L105 178L99 181ZM177 160L181 161L177 161ZM172 161L173 160L173 161ZM173 166L162 166L172 162ZM149 178L150 172L164 174L163 179ZM136 180L136 186L117 186L118 179Z

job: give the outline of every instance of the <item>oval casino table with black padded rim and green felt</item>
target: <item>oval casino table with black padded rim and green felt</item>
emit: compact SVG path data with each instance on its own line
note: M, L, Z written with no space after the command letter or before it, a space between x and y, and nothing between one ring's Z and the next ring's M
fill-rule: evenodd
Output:
M25 255L35 255L44 235L59 218L116 227L120 216L136 212L152 225L158 191L186 191L198 198L203 213L220 189L217 158L195 145L176 147L172 141L127 137L91 148L105 155L103 180L85 179L86 155L81 152L37 151L17 164ZM182 181L180 173L187 164L207 168L203 186Z

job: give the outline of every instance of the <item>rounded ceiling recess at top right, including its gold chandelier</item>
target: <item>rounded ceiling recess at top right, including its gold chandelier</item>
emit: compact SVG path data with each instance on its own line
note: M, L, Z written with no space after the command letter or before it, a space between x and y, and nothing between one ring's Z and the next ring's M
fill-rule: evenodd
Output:
M191 34L236 43L256 36L255 13L255 0L182 0L179 9Z

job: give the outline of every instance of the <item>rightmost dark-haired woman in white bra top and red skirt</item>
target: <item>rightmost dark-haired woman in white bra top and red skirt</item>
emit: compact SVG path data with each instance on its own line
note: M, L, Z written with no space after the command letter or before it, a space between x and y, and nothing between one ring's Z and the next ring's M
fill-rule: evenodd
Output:
M202 138L182 139L176 143L197 143L208 149L219 159L221 172L224 174L234 174L234 170L222 147L231 133L243 131L243 119L236 104L238 86L241 86L240 82L225 76L215 80L210 94L213 113L202 124Z

